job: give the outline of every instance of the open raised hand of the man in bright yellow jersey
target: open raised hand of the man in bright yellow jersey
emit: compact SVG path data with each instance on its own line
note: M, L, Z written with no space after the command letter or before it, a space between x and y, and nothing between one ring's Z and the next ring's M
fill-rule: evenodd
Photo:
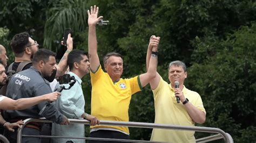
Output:
M88 25L96 25L103 16L98 17L99 7L96 5L91 6L91 10L87 10L88 13Z

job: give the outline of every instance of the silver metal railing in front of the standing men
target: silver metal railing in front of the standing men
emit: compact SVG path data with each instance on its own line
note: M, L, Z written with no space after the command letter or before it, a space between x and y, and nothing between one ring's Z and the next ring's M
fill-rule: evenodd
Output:
M71 124L86 124L90 125L90 121L85 119L69 119ZM45 119L33 119L28 118L24 120L22 128L18 128L17 143L20 143L22 137L38 137L38 138L73 138L73 139L87 139L87 140L109 140L109 141L123 141L123 142L150 142L141 140L122 140L122 139L102 139L102 138L75 138L75 137L57 137L57 136L44 136L44 135L22 135L22 130L29 122L41 122L41 123L52 123L50 120ZM233 143L233 138L230 134L225 133L223 130L214 127L201 127L201 126L181 126L181 125L167 125L167 124L154 124L154 123L142 123L133 121L110 121L100 120L100 125L112 125L112 126L129 126L129 127L143 127L143 128L162 128L167 130L187 130L207 133L217 133L209 137L197 139L197 142L207 142L212 140L224 139L226 143ZM155 141L154 141L155 142Z

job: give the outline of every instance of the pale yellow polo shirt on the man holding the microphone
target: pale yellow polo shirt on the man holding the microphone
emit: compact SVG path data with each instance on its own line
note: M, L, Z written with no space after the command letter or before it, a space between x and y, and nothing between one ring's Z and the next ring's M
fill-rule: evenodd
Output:
M154 108L156 112L154 123L194 126L194 121L186 111L184 105L177 103L174 89L170 84L160 78L159 85L152 90L154 94ZM183 88L185 98L197 109L206 113L200 95L197 92ZM154 128L151 141L164 142L196 142L194 131L163 130Z

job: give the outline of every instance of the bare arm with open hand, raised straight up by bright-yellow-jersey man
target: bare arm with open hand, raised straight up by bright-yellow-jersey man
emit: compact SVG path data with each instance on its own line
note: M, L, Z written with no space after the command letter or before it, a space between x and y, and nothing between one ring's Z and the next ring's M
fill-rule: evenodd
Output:
M90 59L90 68L94 73L99 67L99 56L97 53L97 36L96 36L96 24L103 18L102 16L98 17L99 8L96 8L96 5L91 6L91 10L88 10L88 48L89 48L89 59Z

